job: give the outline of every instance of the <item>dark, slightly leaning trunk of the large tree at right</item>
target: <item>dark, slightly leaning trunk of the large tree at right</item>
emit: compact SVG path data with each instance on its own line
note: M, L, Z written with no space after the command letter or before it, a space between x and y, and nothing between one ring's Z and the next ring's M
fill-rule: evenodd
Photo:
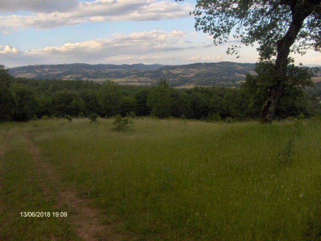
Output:
M269 89L268 96L263 105L260 121L272 123L276 108L286 86L286 74L290 47L294 43L303 21L310 15L311 11L302 6L291 6L292 22L285 36L277 42L277 56L274 63L275 84Z

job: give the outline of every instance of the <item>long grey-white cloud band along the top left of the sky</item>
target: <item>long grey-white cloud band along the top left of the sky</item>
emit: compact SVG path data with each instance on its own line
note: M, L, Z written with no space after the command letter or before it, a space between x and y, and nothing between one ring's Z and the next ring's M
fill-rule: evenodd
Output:
M20 4L21 2L21 4ZM30 3L28 5L28 3ZM3 1L1 12L32 11L31 14L0 15L0 31L8 33L24 28L49 29L87 22L158 21L188 17L190 4L170 0L96 0L75 3L76 0Z

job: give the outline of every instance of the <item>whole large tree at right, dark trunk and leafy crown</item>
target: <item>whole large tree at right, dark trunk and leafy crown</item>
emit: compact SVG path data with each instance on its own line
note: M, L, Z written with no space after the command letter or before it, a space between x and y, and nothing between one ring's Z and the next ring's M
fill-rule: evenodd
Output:
M260 114L271 123L286 88L289 54L321 50L321 0L198 0L191 14L196 30L210 34L215 45L239 40L227 53L258 43L260 61L273 60L273 83Z

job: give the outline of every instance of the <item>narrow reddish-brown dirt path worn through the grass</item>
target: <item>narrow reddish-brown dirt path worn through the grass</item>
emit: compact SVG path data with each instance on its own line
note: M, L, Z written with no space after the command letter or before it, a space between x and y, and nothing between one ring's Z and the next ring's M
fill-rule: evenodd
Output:
M72 213L68 213L68 216L75 226L77 235L86 241L122 240L122 237L119 234L112 232L111 226L101 224L99 221L101 210L89 207L89 199L79 198L77 193L70 187L60 187L60 177L57 175L54 167L50 163L42 160L38 146L32 141L27 132L24 132L24 137L26 138L33 161L42 172L44 172L47 181L49 179L50 183L58 189L58 195L55 197L58 206L67 205L68 208L73 210ZM53 193L50 189L51 188L47 186L44 189L44 192L48 194Z

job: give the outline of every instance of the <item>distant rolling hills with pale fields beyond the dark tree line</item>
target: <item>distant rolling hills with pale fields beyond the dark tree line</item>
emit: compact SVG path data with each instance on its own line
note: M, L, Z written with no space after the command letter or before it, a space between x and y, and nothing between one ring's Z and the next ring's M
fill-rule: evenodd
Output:
M35 79L110 79L120 84L153 84L166 78L172 86L182 85L235 85L245 79L245 73L254 73L250 63L196 63L188 65L160 64L58 64L28 65L11 68L14 77Z

